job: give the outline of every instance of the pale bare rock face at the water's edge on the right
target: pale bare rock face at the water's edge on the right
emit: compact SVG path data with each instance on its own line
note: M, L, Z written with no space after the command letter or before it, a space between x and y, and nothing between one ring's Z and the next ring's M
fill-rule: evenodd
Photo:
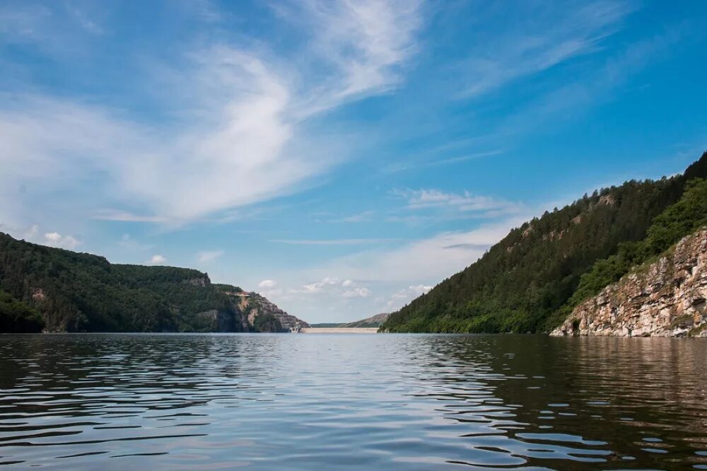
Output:
M707 229L581 303L550 335L707 337Z

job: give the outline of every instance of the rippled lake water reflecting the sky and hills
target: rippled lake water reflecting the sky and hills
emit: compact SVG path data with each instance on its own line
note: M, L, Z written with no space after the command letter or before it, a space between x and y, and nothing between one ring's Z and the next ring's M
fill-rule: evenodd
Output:
M707 469L707 341L4 335L0 464Z

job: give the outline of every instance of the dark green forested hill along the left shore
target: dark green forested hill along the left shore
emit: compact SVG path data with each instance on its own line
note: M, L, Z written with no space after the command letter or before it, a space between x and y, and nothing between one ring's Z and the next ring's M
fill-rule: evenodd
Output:
M243 296L194 269L111 264L0 233L0 332L281 330L249 322Z

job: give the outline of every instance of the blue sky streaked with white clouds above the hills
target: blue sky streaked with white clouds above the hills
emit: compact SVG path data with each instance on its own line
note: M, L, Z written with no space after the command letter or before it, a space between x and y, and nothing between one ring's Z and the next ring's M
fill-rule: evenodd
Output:
M308 322L707 149L703 1L0 2L0 231Z

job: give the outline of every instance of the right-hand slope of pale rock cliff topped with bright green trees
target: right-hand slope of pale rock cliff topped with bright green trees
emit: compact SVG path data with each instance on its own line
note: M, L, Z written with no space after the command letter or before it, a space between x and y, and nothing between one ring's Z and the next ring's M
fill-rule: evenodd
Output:
M653 220L645 239L621 245L582 276L553 334L670 337L701 329L707 320L706 225L707 180L696 178Z

